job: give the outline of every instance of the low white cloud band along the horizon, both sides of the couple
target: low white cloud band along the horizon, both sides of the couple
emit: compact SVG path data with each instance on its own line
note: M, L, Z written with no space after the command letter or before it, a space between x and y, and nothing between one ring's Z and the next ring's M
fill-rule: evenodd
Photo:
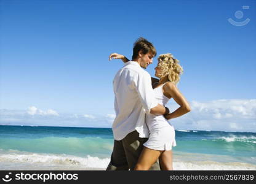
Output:
M201 129L212 131L256 132L256 99L222 99L190 102L191 112L169 122L175 129ZM174 101L168 105L171 112L178 108ZM28 110L0 110L1 125L85 126L108 127L113 124L114 113L58 115L55 110L41 110L31 106Z

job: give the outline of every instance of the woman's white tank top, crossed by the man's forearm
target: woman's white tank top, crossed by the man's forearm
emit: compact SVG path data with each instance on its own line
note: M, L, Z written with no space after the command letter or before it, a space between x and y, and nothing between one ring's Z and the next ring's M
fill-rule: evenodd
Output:
M164 93L162 93L162 86L164 86L166 83L164 83L161 86L158 86L157 88L154 88L154 94L158 101L158 104L161 104L163 106L166 106L167 102L169 101L169 98L167 98ZM160 128L165 128L166 126L170 126L170 123L164 118L163 115L153 115L151 113L146 114L146 125L148 125L148 129L151 131L158 130Z

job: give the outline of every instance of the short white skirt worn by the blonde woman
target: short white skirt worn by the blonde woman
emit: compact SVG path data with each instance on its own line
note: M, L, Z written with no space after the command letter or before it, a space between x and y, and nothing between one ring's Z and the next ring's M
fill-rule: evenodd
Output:
M150 130L150 137L143 145L151 150L172 150L176 146L174 127L169 125Z

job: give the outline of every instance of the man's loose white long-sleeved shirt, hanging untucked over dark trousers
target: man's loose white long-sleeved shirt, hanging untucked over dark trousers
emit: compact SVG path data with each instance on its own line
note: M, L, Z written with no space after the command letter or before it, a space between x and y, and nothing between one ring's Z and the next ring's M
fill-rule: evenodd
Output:
M115 140L124 139L132 131L140 137L148 137L145 114L156 107L151 77L136 61L124 64L113 81L114 86L114 119L112 130Z

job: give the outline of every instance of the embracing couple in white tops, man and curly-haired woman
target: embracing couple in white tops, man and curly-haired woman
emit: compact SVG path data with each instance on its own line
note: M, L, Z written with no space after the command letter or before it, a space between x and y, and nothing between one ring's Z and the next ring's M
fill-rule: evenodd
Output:
M134 43L132 61L113 53L110 59L122 59L114 77L114 148L107 171L172 170L172 147L176 146L174 127L167 120L190 112L190 105L177 89L183 72L170 53L159 55L155 76L144 69L153 63L156 49L140 37ZM165 107L173 98L180 107L170 113Z

